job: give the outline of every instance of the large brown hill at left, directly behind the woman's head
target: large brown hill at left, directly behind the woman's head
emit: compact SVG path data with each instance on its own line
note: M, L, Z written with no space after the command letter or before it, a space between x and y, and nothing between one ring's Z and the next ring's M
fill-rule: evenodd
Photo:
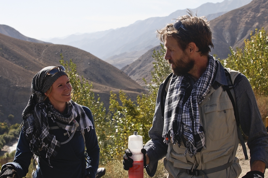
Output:
M21 122L21 113L32 94L32 77L45 66L59 65L60 53L77 64L77 72L93 82L105 106L110 91L123 90L132 99L145 90L123 71L96 56L66 45L26 42L0 34L0 122ZM14 120L7 120L9 114Z

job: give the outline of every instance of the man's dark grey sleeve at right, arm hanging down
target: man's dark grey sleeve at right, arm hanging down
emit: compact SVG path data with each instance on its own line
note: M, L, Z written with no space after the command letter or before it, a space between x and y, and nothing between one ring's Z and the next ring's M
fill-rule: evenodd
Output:
M251 85L243 74L239 74L233 84L240 125L244 134L248 136L250 164L255 160L261 160L268 168L268 134Z

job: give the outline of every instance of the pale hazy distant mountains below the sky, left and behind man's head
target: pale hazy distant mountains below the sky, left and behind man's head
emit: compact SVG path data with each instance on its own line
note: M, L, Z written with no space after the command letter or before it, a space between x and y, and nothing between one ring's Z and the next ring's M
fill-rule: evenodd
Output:
M207 16L208 20L211 20L211 18L216 18L230 10L248 4L250 1L225 0L221 3L205 3L190 10L196 12L198 16ZM187 9L177 10L169 16L138 20L127 27L91 34L71 35L64 39L51 39L48 42L80 48L121 69L122 65L118 61L122 61L123 65L130 64L144 51L159 45L155 31L163 28L166 23L171 23L172 19L186 15L186 11ZM126 60L126 57L129 56L126 53L132 53L133 57ZM133 55L134 53L135 55Z

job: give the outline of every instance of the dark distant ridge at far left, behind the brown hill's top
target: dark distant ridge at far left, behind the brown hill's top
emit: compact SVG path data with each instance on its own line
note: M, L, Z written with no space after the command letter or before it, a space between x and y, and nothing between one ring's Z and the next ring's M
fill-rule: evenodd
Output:
M23 34L21 34L20 32L18 32L17 30L15 30L14 28L7 26L7 25L1 25L0 24L0 33L16 38L16 39L21 39L27 42L35 42L35 43L47 43L47 44L51 44L49 42L43 42L37 39L33 39L33 38L29 38L27 36L24 36Z

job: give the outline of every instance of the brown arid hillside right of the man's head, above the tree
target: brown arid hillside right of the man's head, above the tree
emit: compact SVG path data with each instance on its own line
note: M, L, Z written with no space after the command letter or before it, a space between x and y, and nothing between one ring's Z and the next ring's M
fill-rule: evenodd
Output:
M250 38L255 29L268 30L268 1L253 0L249 4L234 9L210 21L213 32L214 49L211 54L217 54L225 59L230 54L230 48L244 46L244 39Z

